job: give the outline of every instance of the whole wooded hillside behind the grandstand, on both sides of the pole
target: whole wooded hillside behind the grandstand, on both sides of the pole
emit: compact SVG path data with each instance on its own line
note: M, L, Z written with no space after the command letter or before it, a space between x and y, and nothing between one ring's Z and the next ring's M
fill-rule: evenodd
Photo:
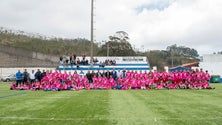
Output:
M111 44L112 43L112 44ZM182 65L184 63L196 62L198 61L198 52L194 49L189 47L183 46L176 46L172 45L166 48L166 50L152 50L149 52L135 52L130 46L129 42L125 42L129 44L127 47L126 45L121 45L122 43L114 41L106 42L106 44L102 46L98 46L94 44L94 56L106 56L107 55L107 46L110 47L109 56L146 56L148 57L150 66L157 66L158 70L163 70L164 66L171 67ZM48 38L45 36L41 36L39 34L29 34L23 31L12 31L12 30L5 30L0 28L0 45L1 46L8 46L20 49L20 55L18 56L18 51L16 50L13 53L10 53L9 58L23 58L24 56L22 53L42 53L48 57L53 56L53 61L46 61L46 64L57 63L57 58L61 55L90 55L90 41L87 39L77 38L77 39L62 39L62 38ZM130 48L127 51L124 51L122 47ZM171 55L171 49L175 51L173 58ZM24 50L25 52L21 52ZM27 51L27 52L26 52ZM115 53L116 52L116 53ZM132 54L133 53L133 54ZM12 57L11 57L12 56ZM33 56L30 56L33 57ZM30 58L29 57L29 58ZM2 58L1 58L2 59ZM33 58L32 58L33 59ZM21 59L21 60L30 60L28 58ZM16 61L16 60L14 60ZM173 61L173 63L172 63ZM8 63L13 62L5 61ZM37 61L34 61L37 62ZM32 63L34 63L32 62ZM19 62L18 65L28 65L26 62ZM10 66L10 65L8 65Z

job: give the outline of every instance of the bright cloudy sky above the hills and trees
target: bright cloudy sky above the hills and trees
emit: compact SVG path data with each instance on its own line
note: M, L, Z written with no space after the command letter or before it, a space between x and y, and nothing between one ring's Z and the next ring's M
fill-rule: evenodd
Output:
M0 0L0 27L90 39L91 0ZM177 44L222 51L222 0L95 0L95 42L117 31L141 51Z

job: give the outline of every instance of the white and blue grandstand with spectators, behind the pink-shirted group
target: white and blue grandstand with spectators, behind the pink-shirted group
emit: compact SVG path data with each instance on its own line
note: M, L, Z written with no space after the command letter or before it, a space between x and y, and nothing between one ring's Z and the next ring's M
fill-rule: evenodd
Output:
M82 58L82 57L77 57ZM94 57L94 59L97 59L98 61L93 64L91 67L90 64L86 65L73 65L69 63L68 65L60 65L58 67L58 70L137 70L137 71L145 71L150 70L149 62L146 57ZM90 60L90 57L86 57L86 60ZM104 65L101 66L102 62L105 62L107 60L115 61L115 64L113 65Z

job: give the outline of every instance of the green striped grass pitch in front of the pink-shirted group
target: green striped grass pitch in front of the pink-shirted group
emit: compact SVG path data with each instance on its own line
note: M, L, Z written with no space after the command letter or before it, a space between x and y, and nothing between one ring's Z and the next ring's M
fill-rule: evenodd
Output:
M215 90L11 91L0 84L0 125L221 125Z

